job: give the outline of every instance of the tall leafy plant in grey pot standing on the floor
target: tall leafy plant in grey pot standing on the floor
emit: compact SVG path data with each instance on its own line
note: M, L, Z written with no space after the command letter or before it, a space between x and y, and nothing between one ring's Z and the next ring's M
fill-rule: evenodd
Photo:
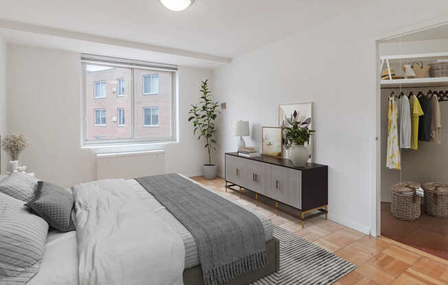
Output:
M208 151L208 164L203 165L203 176L205 179L214 179L216 177L216 164L212 164L212 149L216 149L214 145L215 129L214 120L221 114L219 112L219 103L213 102L210 99L210 90L208 89L208 79L201 82L201 101L198 105L192 105L192 109L188 111L190 118L188 121L193 121L193 133L199 132L198 140L203 138L204 147Z

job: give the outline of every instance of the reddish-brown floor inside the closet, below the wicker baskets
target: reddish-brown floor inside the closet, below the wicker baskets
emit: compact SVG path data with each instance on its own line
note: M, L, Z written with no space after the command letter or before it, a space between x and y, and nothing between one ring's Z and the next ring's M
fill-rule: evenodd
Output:
M416 221L401 221L390 203L381 203L381 235L448 260L448 219L422 213Z

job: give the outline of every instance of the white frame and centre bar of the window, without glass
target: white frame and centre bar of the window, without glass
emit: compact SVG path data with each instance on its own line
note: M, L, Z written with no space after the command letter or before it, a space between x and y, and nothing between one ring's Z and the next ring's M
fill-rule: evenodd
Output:
M131 69L131 84L128 84L130 88L126 90L126 95L131 97L131 129L132 138L116 138L116 139L106 139L106 140L88 140L87 139L87 71L85 65L101 65L109 67L124 67ZM171 134L170 136L160 136L157 138L139 138L135 137L135 128L137 123L135 122L135 74L132 69L147 69L149 72L157 73L157 71L167 71L170 73L171 77ZM120 151L126 151L126 149L133 149L133 146L146 145L152 147L152 145L157 146L167 143L178 143L179 142L179 71L176 65L173 64L161 64L155 62L144 62L139 60L126 60L123 58L111 58L102 55L80 55L80 72L81 72L81 108L80 108L80 124L81 124L81 136L80 136L80 147L88 149L116 149L120 147ZM137 86L138 87L138 86ZM105 149L107 148L107 149Z

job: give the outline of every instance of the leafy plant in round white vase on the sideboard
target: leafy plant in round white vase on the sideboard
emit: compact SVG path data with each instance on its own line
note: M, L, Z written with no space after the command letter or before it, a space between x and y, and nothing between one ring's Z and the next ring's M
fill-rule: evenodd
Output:
M291 127L284 127L285 140L289 149L289 158L295 166L304 166L309 159L308 144L315 130L309 129L308 121L293 121Z

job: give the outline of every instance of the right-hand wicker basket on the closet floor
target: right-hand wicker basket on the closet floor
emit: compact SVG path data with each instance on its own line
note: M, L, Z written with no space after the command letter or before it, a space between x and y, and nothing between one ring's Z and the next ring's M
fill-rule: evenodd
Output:
M448 184L429 182L423 184L425 210L436 218L448 218Z

